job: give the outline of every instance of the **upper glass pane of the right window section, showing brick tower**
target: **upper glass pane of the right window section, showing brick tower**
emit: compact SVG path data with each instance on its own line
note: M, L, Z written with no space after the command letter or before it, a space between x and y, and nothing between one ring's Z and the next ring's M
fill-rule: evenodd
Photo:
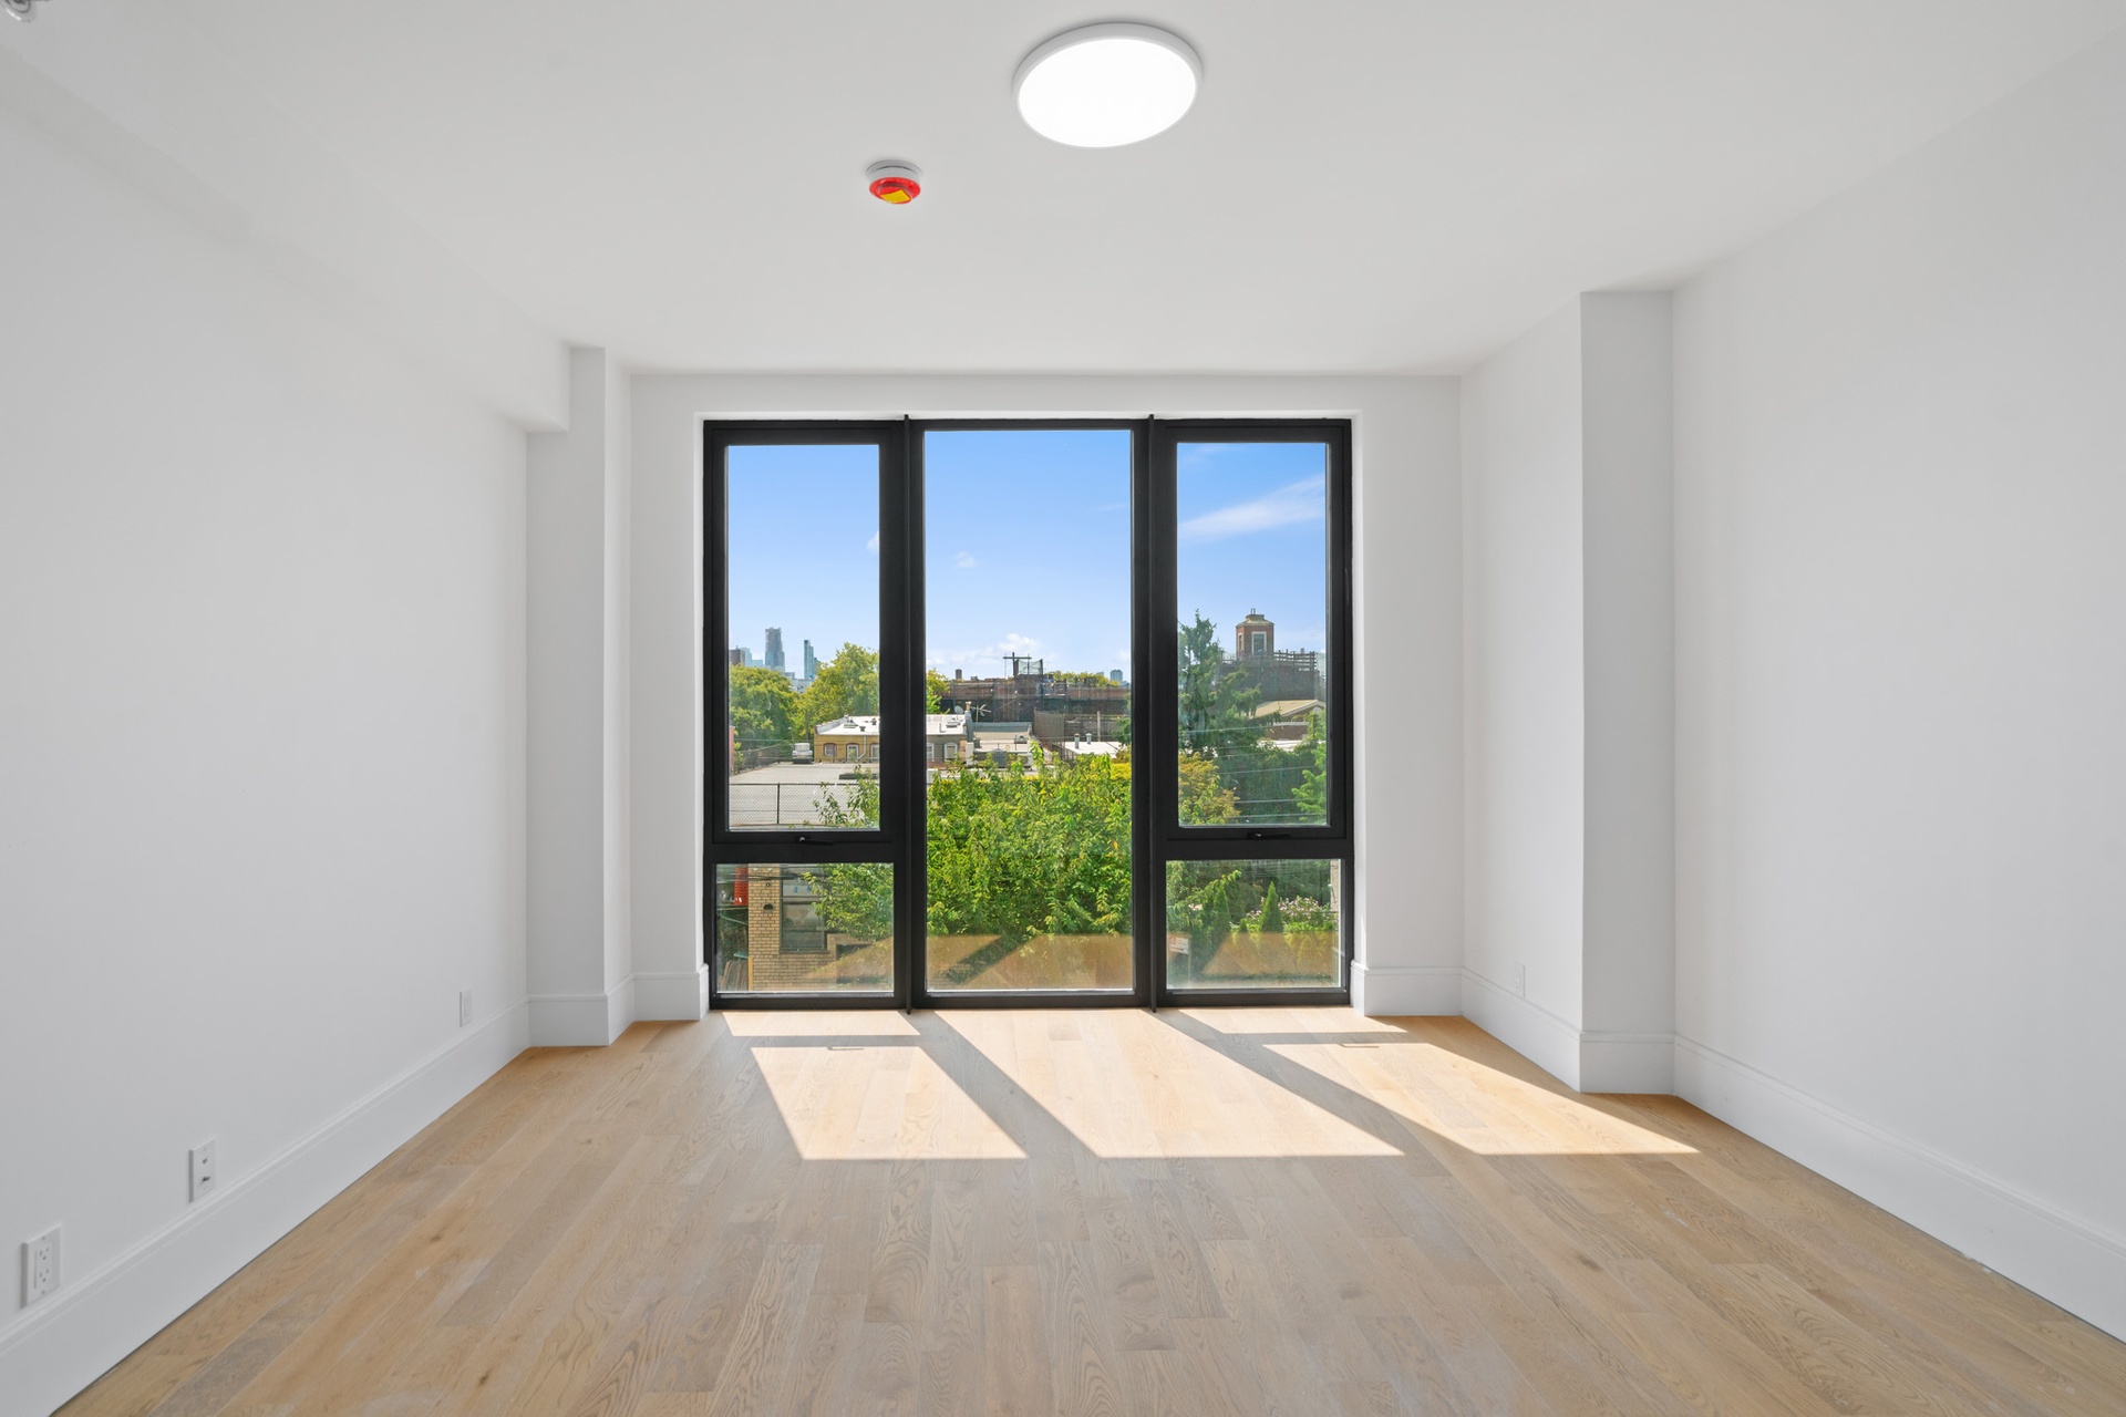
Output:
M1329 822L1329 446L1176 459L1182 826Z

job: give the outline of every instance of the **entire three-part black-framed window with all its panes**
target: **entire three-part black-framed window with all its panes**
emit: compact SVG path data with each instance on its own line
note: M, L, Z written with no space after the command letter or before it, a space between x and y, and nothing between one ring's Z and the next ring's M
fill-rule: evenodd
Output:
M708 425L719 1003L1344 996L1348 448Z

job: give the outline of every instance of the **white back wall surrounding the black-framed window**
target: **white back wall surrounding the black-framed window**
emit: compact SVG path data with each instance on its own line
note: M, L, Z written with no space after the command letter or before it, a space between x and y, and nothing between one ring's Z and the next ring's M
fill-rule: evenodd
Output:
M1461 1007L1456 397L1435 378L646 376L634 382L634 947L702 960L702 419L1293 414L1356 421L1359 937L1373 1013Z

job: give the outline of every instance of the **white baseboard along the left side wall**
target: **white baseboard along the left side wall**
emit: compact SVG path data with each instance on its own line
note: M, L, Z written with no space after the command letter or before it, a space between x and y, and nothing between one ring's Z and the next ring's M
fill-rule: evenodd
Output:
M370 1092L0 1330L0 1417L45 1417L525 1049L525 1005Z

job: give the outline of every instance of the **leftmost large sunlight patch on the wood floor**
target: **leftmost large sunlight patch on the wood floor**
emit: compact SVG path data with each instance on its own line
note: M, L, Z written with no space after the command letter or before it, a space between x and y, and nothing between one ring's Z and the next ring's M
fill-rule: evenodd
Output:
M923 1047L853 1041L750 1054L791 1145L808 1162L1025 1158Z

